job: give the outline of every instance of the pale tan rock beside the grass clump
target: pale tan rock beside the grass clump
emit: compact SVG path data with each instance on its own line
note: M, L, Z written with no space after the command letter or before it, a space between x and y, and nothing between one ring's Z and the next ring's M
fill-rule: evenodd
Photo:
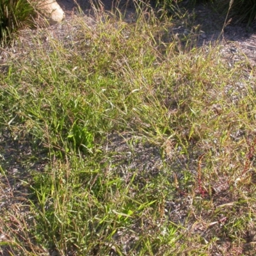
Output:
M65 13L55 0L40 0L37 9L42 13L50 26L61 22L65 17Z

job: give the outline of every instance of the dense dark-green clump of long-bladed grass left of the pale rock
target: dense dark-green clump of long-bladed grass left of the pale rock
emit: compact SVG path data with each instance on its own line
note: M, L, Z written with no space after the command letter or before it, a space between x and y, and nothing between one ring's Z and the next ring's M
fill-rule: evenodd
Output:
M0 0L0 42L6 44L13 32L33 26L35 8L27 0Z

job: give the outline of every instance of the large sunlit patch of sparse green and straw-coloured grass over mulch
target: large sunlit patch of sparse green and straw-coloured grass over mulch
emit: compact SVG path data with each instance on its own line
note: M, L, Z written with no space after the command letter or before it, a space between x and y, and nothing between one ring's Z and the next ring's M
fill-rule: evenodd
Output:
M118 15L30 35L0 74L1 253L253 255L254 68Z

